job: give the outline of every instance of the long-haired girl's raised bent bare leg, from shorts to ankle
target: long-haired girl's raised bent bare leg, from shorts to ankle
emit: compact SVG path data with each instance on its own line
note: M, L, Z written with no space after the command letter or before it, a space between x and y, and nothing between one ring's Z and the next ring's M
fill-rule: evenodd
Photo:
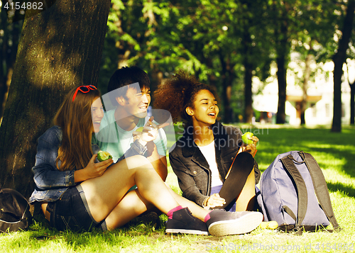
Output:
M134 156L112 165L102 176L82 182L94 220L107 218L135 184L141 196L163 213L179 206L148 159Z

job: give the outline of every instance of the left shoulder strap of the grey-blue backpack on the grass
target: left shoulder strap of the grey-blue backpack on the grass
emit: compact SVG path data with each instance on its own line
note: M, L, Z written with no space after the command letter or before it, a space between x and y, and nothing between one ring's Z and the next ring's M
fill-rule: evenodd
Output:
M281 162L283 163L285 170L288 172L288 174L290 174L293 181L295 182L296 192L298 196L298 203L297 203L298 208L297 208L297 220L295 220L295 232L297 233L297 235L300 235L302 234L301 223L305 219L305 215L307 213L308 197L307 197L307 187L305 181L303 180L300 172L298 171L293 161L295 161L295 159L293 158L292 154L289 154L287 157L281 158Z

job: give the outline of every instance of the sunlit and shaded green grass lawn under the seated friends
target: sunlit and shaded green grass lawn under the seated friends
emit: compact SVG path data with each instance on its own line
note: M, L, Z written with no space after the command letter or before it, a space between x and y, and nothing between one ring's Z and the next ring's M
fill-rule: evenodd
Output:
M342 133L331 133L329 128L239 127L260 139L256 160L261 172L278 154L290 150L303 150L315 157L327 180L341 232L304 232L296 236L258 228L248 235L226 237L165 235L166 216L160 215L162 227L158 230L131 223L113 232L79 234L34 223L29 231L0 235L0 252L354 252L355 128L344 126ZM179 191L171 168L167 181Z

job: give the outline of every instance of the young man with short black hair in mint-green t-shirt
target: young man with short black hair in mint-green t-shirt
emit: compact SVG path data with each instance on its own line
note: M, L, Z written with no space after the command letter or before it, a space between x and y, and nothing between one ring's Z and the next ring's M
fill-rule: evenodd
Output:
M107 95L102 96L104 106L115 108L107 111L97 135L98 145L109 152L114 162L131 147L133 135L149 120L148 106L151 103L151 81L148 74L139 67L123 67L111 76ZM171 121L171 120L170 120ZM158 125L153 121L152 125ZM166 151L167 138L160 128L158 137L147 144L146 155L155 171L165 181L168 175Z

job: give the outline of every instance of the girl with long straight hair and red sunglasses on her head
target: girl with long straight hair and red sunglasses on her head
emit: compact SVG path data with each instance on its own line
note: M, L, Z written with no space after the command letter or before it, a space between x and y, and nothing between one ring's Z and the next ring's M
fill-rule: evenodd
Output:
M263 215L258 212L209 211L182 198L165 185L143 155L127 156L115 164L112 159L96 163L97 146L91 140L102 117L99 90L78 86L65 97L54 126L38 138L30 203L40 203L52 227L114 230L129 222L125 213L136 210L131 212L126 203L134 202L140 203L138 208L155 206L168 215L166 232L200 230L205 234L207 227L211 235L234 235L250 232L261 223ZM158 130L148 124L128 152L143 150L156 137ZM127 193L135 184L138 189Z

